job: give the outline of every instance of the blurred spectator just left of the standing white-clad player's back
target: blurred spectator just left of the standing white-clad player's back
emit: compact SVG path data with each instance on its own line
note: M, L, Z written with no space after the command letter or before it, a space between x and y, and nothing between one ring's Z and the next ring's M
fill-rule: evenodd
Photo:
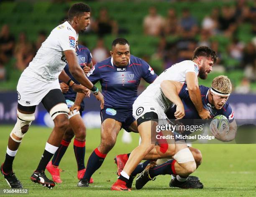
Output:
M16 58L16 67L20 71L23 71L35 56L34 48L32 44L28 42L25 33L20 33L14 54Z

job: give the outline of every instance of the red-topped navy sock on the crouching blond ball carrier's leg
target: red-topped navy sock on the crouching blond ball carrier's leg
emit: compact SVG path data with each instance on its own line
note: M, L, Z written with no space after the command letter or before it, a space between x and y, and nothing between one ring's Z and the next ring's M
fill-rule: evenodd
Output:
M156 177L157 175L165 175L165 174L176 174L174 169L174 164L176 160L172 159L168 162L165 162L159 166L155 166L149 169L148 173L151 178Z

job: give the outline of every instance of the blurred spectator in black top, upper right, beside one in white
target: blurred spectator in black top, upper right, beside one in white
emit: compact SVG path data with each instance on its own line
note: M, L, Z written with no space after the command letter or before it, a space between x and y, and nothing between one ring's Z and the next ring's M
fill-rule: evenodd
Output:
M221 8L221 15L218 22L222 33L227 37L231 37L237 28L235 9L231 6L224 5Z

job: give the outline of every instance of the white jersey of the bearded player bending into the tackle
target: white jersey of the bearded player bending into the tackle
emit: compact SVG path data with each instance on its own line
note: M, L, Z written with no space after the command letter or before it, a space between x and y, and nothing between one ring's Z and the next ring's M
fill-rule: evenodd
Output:
M161 75L159 75L156 80L151 83L143 93L138 97L142 101L153 101L158 103L161 108L166 112L172 105L164 93L161 91L160 84L164 80L179 81L181 83L186 83L186 73L194 72L199 73L198 65L190 60L182 61L172 65L170 68L166 69ZM143 98L142 98L143 97Z

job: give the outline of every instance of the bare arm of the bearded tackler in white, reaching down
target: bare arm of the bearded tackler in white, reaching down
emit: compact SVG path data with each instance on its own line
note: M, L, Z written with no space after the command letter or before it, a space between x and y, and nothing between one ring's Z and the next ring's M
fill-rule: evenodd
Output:
M202 105L201 92L198 86L197 74L194 72L188 72L186 74L186 81L187 89L189 91L189 97L191 98L191 101L195 105L195 108L197 109L199 116L202 119L210 119L210 112L204 109Z

